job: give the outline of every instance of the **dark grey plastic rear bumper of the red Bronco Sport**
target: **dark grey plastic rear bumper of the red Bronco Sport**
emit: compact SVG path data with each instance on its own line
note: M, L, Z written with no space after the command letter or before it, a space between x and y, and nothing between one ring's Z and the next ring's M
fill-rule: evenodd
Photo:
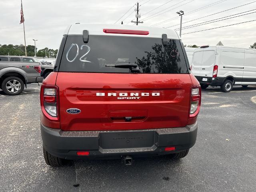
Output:
M41 134L44 148L54 156L97 159L177 153L194 146L197 127L196 122L182 128L153 130L62 131L41 124ZM175 147L176 150L165 152L165 147ZM78 156L77 151L89 151L90 155Z

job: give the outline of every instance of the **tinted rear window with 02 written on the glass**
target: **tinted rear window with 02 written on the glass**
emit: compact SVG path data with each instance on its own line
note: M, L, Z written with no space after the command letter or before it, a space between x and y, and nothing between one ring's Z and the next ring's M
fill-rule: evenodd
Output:
M115 64L137 64L136 70L117 68ZM90 35L88 43L82 35L67 37L61 72L102 73L188 73L180 40L162 38Z

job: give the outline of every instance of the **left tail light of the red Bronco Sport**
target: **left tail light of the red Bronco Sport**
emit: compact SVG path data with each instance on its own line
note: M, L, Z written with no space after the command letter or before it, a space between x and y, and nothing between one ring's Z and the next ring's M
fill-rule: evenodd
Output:
M50 128L59 128L59 97L58 87L54 85L41 86L40 103L41 103L41 122Z

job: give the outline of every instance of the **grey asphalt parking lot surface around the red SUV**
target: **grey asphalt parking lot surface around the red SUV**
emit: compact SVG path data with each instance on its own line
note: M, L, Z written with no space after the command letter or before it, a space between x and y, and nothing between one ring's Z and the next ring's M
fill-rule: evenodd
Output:
M254 191L256 87L202 91L198 137L188 156L74 161L52 168L42 154L40 86L18 96L0 90L2 191Z

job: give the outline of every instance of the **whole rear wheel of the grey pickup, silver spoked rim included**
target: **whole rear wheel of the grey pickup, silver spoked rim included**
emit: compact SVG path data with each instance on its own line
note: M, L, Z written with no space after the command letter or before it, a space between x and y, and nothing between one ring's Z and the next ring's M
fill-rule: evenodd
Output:
M2 82L2 90L7 95L18 95L24 90L24 82L15 76L7 77Z

